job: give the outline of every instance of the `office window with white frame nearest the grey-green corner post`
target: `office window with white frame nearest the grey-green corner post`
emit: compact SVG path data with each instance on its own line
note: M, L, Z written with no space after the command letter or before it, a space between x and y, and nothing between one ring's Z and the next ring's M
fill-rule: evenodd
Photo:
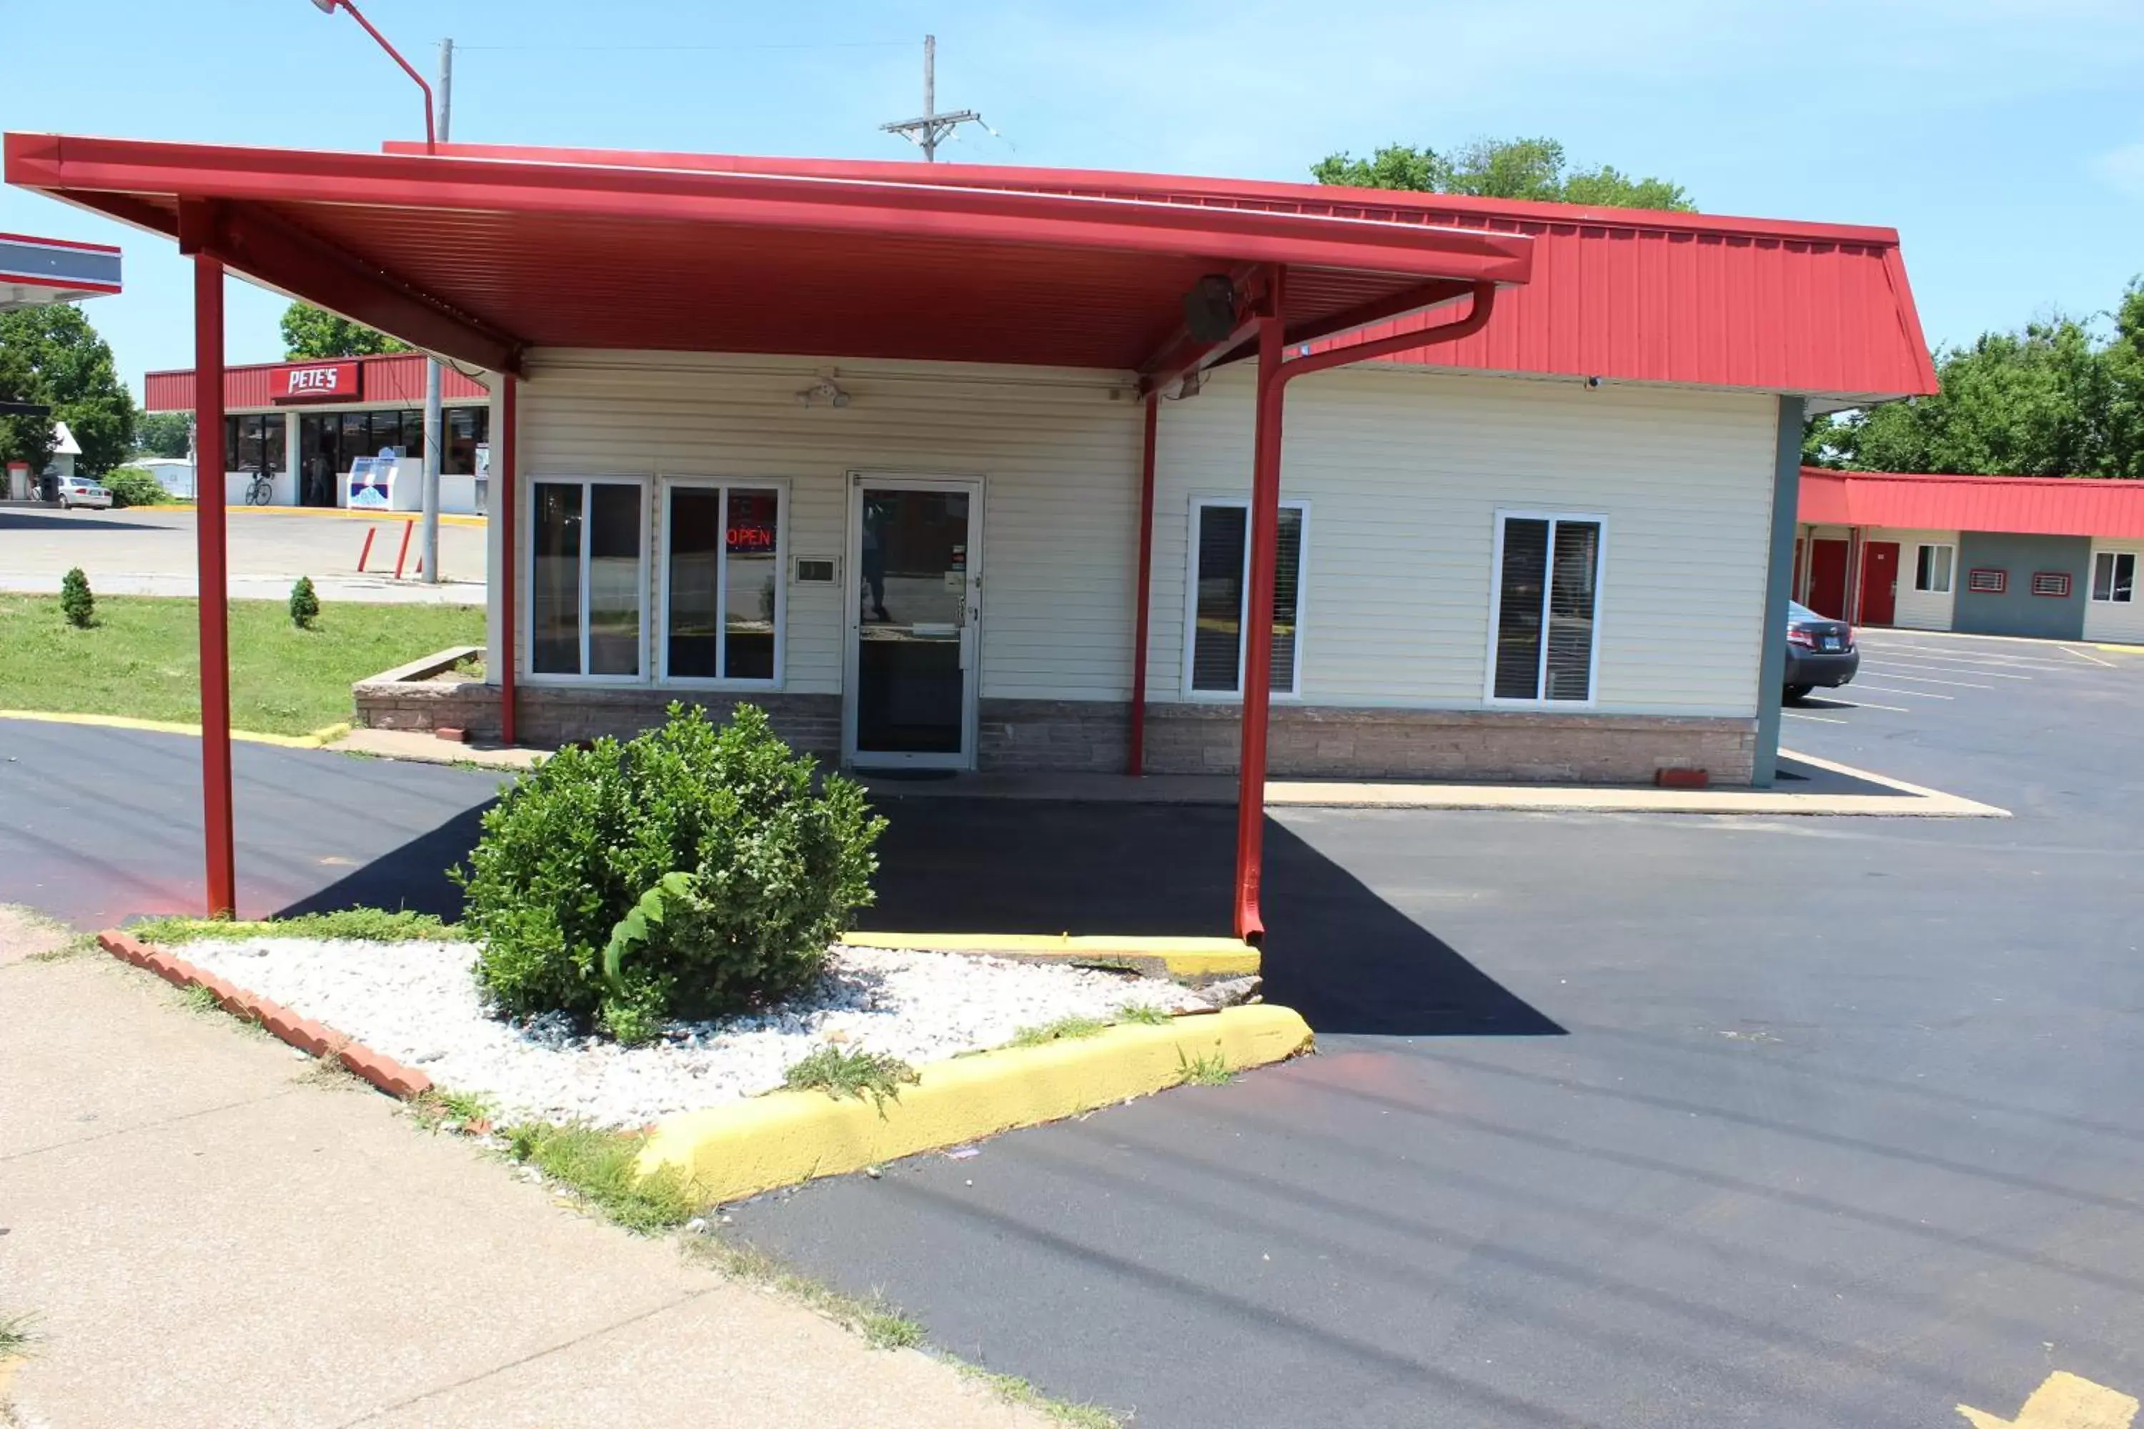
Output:
M1497 512L1490 701L1591 703L1604 531L1602 516Z

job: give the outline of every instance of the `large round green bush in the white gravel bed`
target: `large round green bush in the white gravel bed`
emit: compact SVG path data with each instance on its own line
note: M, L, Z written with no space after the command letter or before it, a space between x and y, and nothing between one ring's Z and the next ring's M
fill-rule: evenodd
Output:
M564 1011L620 1041L802 992L870 902L885 827L864 791L740 705L630 741L564 748L485 814L463 928L476 977L515 1016Z

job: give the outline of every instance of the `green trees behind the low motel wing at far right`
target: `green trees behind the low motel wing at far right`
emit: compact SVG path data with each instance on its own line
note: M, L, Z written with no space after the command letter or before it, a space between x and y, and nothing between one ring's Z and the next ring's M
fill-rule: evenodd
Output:
M2050 317L1934 354L1938 392L1814 418L1803 458L1857 471L2144 478L2144 279L2114 336Z

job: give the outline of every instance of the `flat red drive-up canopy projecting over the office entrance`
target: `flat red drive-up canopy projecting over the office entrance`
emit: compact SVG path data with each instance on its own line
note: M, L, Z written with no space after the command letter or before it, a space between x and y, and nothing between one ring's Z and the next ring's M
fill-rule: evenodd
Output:
M6 180L493 371L542 347L1141 371L1203 274L1291 341L1524 283L1520 234L1168 197L6 135Z

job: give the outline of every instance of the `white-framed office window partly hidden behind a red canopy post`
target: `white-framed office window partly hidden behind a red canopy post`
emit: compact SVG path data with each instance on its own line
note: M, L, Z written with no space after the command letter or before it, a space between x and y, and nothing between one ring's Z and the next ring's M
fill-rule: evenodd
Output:
M1301 666L1304 536L1308 501L1280 503L1274 563L1274 694L1295 694ZM1241 698L1244 611L1250 596L1250 501L1192 499L1190 591L1183 611L1183 688L1192 696Z

